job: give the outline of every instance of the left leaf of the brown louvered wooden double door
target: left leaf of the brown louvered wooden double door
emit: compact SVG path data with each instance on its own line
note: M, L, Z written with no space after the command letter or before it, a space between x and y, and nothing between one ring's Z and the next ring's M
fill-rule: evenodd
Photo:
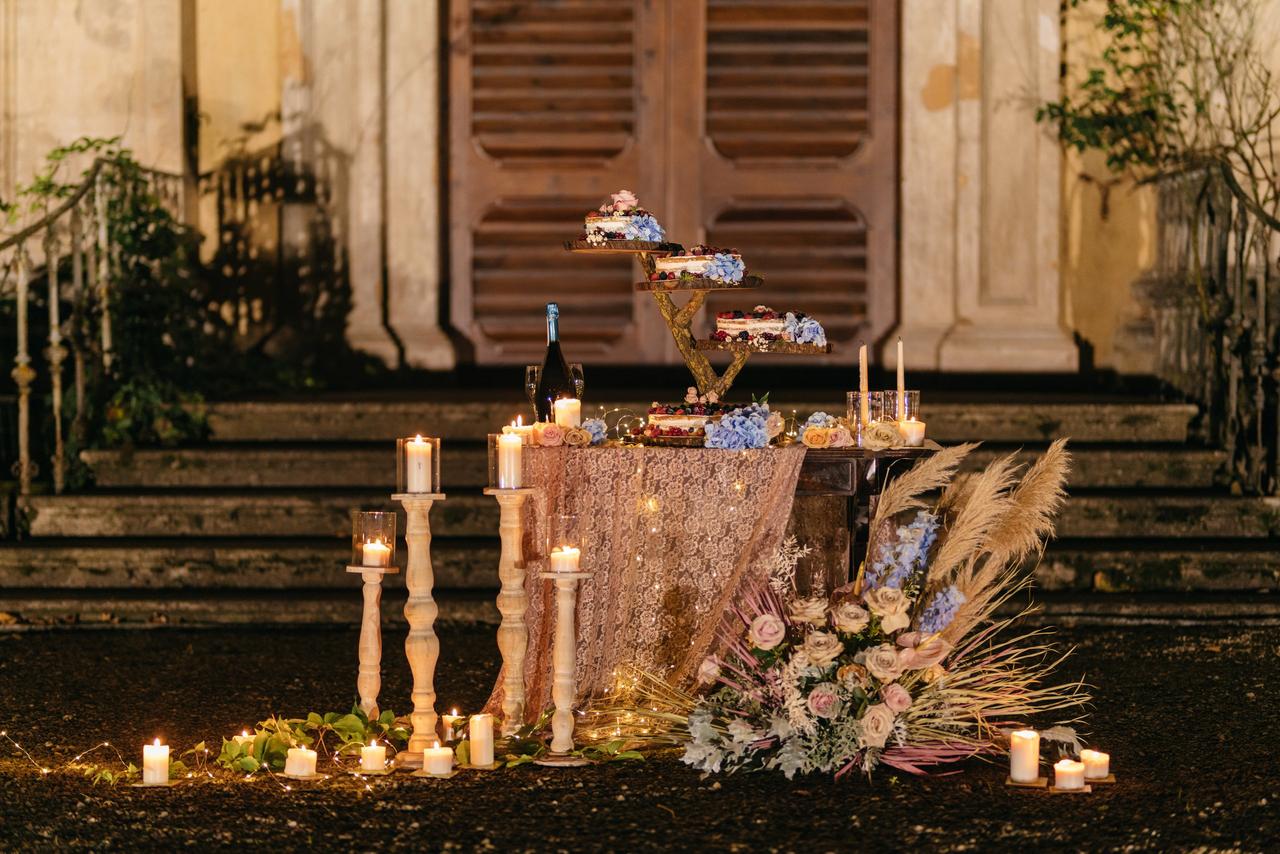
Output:
M611 192L655 198L654 123L641 110L655 29L646 6L452 4L451 314L481 364L540 356L548 301L561 303L571 357L654 356L646 342L660 319L632 292L634 262L562 248Z

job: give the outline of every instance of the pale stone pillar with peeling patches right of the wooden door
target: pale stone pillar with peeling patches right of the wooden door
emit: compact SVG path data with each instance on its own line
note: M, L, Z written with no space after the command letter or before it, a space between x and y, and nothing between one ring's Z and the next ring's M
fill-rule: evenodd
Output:
M1056 0L904 4L896 334L911 367L1078 366L1059 286L1061 151L1034 120L1059 64Z

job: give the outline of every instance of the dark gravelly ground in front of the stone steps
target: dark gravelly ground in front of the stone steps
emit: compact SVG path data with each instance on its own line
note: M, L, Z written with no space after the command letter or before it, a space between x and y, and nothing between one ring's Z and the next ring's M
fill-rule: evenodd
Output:
M475 709L493 632L442 627L439 708ZM1280 629L1088 627L1066 667L1096 685L1091 741L1119 785L1088 796L1006 789L1004 766L918 780L882 773L701 780L675 758L449 781L93 787L41 776L0 740L0 850L1266 850L1280 848ZM349 708L356 638L337 630L68 630L0 634L0 729L46 764L110 740L137 761L271 712ZM384 704L407 711L399 632ZM138 754L134 757L133 754ZM321 771L324 768L321 767Z

